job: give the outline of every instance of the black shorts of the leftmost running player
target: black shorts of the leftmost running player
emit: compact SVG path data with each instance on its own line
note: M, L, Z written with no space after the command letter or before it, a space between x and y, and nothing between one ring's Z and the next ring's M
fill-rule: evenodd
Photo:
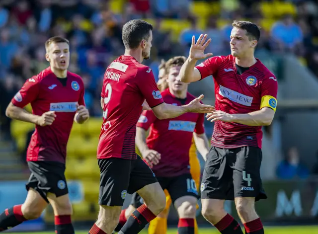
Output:
M28 161L31 171L26 189L35 189L43 199L49 203L47 193L54 193L57 197L69 193L65 178L65 164L57 161Z

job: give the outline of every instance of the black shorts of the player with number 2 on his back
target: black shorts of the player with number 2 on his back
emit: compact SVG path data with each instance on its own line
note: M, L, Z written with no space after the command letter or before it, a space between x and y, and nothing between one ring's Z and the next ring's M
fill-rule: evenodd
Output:
M156 183L154 172L140 156L136 159L98 159L100 168L99 205L123 206L126 194Z

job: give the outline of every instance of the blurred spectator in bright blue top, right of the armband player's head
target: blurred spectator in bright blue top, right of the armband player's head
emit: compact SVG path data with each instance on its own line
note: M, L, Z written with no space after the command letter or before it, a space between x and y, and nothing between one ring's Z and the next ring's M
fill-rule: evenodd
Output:
M286 14L281 21L276 22L271 30L273 48L284 52L294 52L303 42L303 32L294 22L293 16Z

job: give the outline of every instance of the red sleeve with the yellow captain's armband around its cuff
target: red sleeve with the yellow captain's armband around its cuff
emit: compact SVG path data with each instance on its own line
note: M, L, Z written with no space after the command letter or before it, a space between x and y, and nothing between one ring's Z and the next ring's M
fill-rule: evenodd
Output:
M278 83L277 79L272 76L269 78L265 78L261 84L261 104L260 109L264 107L269 107L276 111L277 106L277 90Z

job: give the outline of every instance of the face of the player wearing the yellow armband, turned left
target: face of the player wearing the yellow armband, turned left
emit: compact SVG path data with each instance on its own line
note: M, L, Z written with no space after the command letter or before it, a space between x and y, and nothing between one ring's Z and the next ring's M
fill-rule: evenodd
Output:
M233 27L231 32L231 54L234 57L242 58L254 53L254 48L257 45L256 40L249 40L246 35L246 30Z

